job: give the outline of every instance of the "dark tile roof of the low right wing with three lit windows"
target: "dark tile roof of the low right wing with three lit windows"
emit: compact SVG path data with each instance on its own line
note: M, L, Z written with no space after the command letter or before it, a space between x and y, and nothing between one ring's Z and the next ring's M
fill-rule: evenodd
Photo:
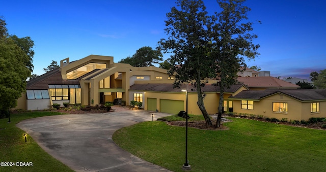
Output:
M316 89L266 89L266 90L243 90L232 99L262 99L269 95L282 93L300 101L326 100L326 90Z

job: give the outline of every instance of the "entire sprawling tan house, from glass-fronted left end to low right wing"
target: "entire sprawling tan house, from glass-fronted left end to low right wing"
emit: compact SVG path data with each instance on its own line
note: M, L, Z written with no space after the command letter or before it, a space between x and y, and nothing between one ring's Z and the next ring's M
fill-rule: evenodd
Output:
M17 100L15 109L44 110L64 102L85 106L103 105L105 101L121 99L141 101L142 108L177 114L202 114L197 105L198 95L192 84L173 88L174 76L155 66L133 67L114 63L112 56L89 55L71 61L65 58L60 67L28 81L26 93ZM218 113L220 87L209 80L202 87L208 114ZM238 84L225 88L224 112L263 115L265 117L307 120L326 117L326 92L297 89L299 86L274 77L238 77Z

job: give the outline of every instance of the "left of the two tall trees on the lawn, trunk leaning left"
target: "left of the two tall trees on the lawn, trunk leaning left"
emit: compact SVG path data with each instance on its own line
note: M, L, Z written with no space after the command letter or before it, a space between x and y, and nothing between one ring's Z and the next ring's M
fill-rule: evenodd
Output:
M167 13L165 31L169 37L158 42L159 49L164 53L172 53L168 59L172 64L168 74L175 75L174 87L180 87L182 83L191 83L197 87L197 105L206 124L212 126L201 89L205 84L201 82L203 79L216 76L214 67L211 67L214 61L209 56L211 18L201 0L178 0L176 4L177 7Z

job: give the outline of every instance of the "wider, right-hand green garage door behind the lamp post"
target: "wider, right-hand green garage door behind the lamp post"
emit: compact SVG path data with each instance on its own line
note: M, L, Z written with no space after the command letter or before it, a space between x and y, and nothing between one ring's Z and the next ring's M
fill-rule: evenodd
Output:
M184 103L181 100L167 100L160 99L160 112L169 114L178 114L180 111L184 111Z

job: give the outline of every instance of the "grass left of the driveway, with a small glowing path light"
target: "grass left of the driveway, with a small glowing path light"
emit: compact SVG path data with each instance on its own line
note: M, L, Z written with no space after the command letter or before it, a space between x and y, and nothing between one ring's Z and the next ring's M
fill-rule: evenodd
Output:
M0 162L15 164L0 166L0 171L73 171L47 154L32 137L27 136L25 143L25 131L16 127L18 122L25 119L60 114L62 113L51 111L11 114L11 123L7 123L8 118L0 119ZM33 166L16 166L16 162L32 162Z

